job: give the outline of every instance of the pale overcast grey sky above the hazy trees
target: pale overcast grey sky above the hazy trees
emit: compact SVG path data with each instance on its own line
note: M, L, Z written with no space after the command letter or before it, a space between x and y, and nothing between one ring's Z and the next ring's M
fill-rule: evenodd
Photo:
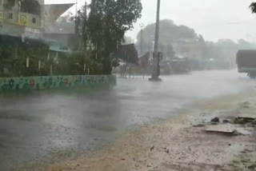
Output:
M78 8L84 2L78 0ZM46 0L46 3L68 3L75 0ZM219 38L237 40L245 38L256 42L256 14L251 14L249 5L252 0L162 0L161 19L171 19L178 25L193 28L206 40ZM142 18L134 24L134 30L127 33L133 38L138 34L139 23L155 21L157 0L142 0ZM75 7L71 9L74 10Z

